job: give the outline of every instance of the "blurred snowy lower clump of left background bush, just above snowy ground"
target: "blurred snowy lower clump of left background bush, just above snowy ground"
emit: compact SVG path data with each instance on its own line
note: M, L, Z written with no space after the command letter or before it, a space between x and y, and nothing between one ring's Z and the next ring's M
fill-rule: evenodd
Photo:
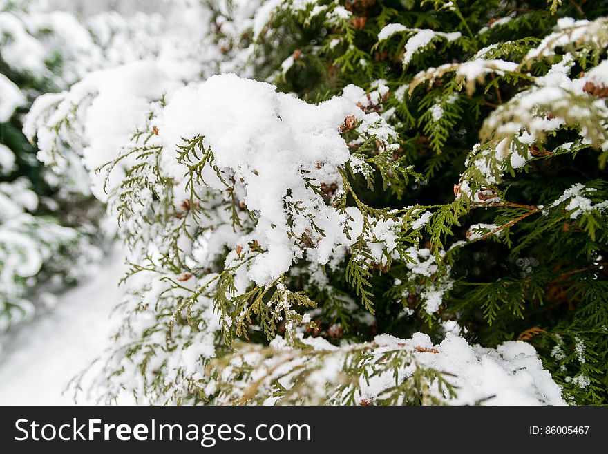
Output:
M38 197L29 186L26 178L0 182L1 331L31 319L35 302L52 305L49 292L82 278L84 265L101 258L84 232L59 225L53 216L32 216Z

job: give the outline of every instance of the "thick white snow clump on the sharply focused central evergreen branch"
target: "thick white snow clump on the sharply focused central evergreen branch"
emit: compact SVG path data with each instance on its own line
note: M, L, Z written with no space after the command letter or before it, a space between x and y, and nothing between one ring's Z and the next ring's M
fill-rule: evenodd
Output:
M297 238L307 231L321 264L336 247L352 245L357 238L357 232L350 239L345 236L344 226L349 217L361 218L358 210L350 209L347 215L328 206L307 187L302 169L316 182L341 184L337 169L350 160L350 152L339 126L351 115L357 121L382 120L357 106L363 95L361 88L348 86L342 96L307 104L277 93L270 84L227 74L181 88L169 99L158 121L164 169L175 169L175 178L182 178L187 169L176 166L175 151L183 138L202 136L225 177L234 174L234 180L242 182L243 201L258 214L256 229L239 243L246 247L255 238L266 249L249 268L251 281L263 285L287 272L301 257ZM213 171L205 178L213 189L225 191ZM305 215L294 213L289 220L285 202L296 201L301 201ZM312 222L323 236L312 234ZM375 233L384 238L381 227L377 224ZM237 258L235 253L227 261Z

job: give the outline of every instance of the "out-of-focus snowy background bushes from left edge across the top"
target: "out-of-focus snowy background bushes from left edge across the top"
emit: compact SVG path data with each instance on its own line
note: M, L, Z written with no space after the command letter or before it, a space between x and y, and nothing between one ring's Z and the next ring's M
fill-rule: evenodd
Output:
M201 51L196 24L186 25L180 21L189 39L154 13L82 19L45 1L0 2L0 332L30 319L35 305L51 301L48 292L82 278L86 264L101 258L91 242L99 239L103 211L84 164L65 153L41 165L21 132L24 111L41 93L64 90L95 70L146 57L186 60L187 52ZM175 77L200 71L182 68Z

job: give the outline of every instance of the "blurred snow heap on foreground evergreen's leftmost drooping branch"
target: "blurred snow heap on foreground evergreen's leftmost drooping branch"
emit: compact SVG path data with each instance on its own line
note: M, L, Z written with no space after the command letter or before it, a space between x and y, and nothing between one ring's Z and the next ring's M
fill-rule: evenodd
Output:
M79 119L83 122L84 144L81 146L84 146L80 153L93 182L93 194L105 201L104 175L95 173L95 169L111 161L129 144L133 131L144 122L151 101L160 99L163 93L170 94L180 85L167 75L160 63L153 61L132 62L96 71L84 77L70 91L37 98L26 117L23 131L30 140L37 133L38 158L54 164L56 138L53 128L69 117L75 107L82 109ZM89 101L91 98L93 101ZM45 111L53 107L55 111L44 118ZM128 162L123 165L126 164ZM115 171L111 178L117 184L120 173Z

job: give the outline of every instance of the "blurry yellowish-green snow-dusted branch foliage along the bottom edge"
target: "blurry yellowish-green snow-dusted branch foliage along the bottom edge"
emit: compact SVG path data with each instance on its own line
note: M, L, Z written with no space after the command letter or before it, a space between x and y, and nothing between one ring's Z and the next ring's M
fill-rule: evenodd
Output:
M441 395L455 395L448 375L417 366L413 355L405 350L390 349L378 354L374 352L377 348L374 343L345 350L318 350L305 344L300 348L301 361L293 363L292 352L237 345L234 354L209 364L207 372L217 380L213 397L231 404L267 404L268 401L275 405L442 404L441 399L429 392L433 384ZM269 359L273 361L272 366L265 363ZM415 372L403 381L399 375L407 366L415 366ZM316 375L323 371L331 378L319 385ZM241 377L237 384L223 378L235 375ZM388 387L376 401L361 397L362 384L381 376L392 378L395 385Z

